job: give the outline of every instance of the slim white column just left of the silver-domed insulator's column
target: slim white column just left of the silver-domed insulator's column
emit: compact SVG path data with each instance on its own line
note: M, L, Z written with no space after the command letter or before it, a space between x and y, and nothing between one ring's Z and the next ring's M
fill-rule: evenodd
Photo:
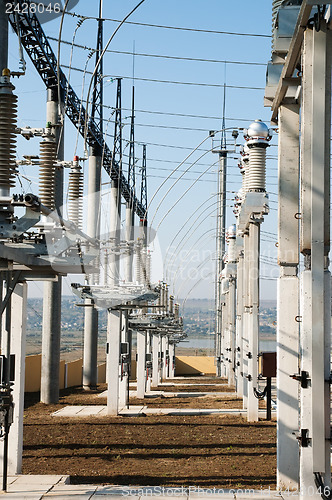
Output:
M237 294L236 294L236 333L235 333L235 378L236 394L243 395L243 363L242 363L242 328L243 328L243 253L240 252L237 264Z

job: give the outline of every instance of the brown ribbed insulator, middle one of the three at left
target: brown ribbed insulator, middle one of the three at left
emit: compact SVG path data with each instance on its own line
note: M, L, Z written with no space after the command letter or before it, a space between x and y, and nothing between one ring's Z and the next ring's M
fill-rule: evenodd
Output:
M55 209L55 163L57 145L55 141L44 140L40 143L39 196L43 205Z

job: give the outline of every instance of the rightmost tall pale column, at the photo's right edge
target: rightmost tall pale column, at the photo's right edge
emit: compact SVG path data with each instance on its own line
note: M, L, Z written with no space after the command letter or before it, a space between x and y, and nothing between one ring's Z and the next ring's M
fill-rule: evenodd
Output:
M300 498L331 484L330 130L331 31L307 29L303 45ZM305 381L303 381L305 377ZM316 477L315 477L316 475Z

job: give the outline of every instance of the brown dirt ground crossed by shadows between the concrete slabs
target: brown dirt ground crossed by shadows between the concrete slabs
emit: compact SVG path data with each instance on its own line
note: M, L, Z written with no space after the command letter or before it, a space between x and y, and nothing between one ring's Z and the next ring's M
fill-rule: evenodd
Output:
M208 392L215 379L189 379ZM198 385L199 384L199 385ZM225 387L225 386L222 386ZM69 474L73 483L275 488L275 422L248 424L233 415L61 418L68 405L105 404L98 391L61 392L59 404L26 397L24 474ZM165 390L165 386L159 387ZM221 389L221 388L220 388ZM213 388L215 391L215 388ZM229 389L228 389L229 391ZM227 392L228 392L227 391ZM219 392L219 391L218 391ZM131 398L130 404L172 408L241 408L236 396Z

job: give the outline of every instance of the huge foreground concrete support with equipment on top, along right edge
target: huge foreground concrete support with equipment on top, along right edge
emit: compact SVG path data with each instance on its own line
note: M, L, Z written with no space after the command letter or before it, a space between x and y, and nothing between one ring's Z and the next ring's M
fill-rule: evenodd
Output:
M273 2L279 129L277 487L331 498L331 2Z

